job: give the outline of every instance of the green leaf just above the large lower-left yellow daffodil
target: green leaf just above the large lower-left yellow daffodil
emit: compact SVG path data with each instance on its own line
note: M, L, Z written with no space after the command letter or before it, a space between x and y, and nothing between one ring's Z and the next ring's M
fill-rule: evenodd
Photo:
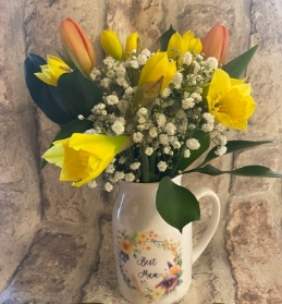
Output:
M52 143L56 141L64 139L71 137L73 133L84 133L86 130L93 127L93 121L90 120L73 120L61 127L61 131L56 135ZM53 144L50 145L50 147ZM44 159L40 165L40 169L47 165L47 161Z

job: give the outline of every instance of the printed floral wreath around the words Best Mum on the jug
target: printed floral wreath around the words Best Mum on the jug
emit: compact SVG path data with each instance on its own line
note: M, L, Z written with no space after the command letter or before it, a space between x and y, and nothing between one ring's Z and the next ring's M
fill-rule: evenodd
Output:
M182 283L182 250L180 242L160 238L155 231L133 232L118 231L117 255L119 268L126 285L136 294L147 300L147 303L163 297L173 292ZM161 260L156 256L160 256ZM160 264L161 272L154 271ZM135 268L131 265L135 265ZM138 271L133 272L132 269Z

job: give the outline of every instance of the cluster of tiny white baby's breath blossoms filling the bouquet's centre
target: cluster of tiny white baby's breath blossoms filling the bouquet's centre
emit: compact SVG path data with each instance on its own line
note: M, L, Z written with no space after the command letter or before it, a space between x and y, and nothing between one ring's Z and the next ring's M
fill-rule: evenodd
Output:
M196 130L210 135L217 145L216 154L226 151L226 129L214 122L214 118L203 102L203 84L208 83L218 66L214 58L204 60L201 54L186 52L181 64L189 73L176 72L171 84L146 106L133 107L136 87L132 85L132 73L140 73L152 53L144 49L136 51L125 62L107 57L103 65L95 68L91 78L103 92L102 102L96 105L88 118L94 121L87 133L132 136L131 149L119 154L105 170L106 191L111 191L120 180L139 182L143 179L144 158L154 159L155 174L173 170L173 163L189 158L200 147L193 137ZM96 186L91 181L89 186Z

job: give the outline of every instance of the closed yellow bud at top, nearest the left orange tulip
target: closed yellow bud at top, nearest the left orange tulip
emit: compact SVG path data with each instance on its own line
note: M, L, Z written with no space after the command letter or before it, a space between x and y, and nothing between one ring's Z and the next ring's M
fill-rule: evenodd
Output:
M111 56L117 60L122 60L123 49L118 35L112 31L102 31L100 36L102 49L107 56Z

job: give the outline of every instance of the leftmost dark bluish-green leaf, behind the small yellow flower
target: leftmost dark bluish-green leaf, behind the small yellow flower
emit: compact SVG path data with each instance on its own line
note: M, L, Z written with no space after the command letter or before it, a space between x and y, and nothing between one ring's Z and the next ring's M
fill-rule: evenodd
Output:
M59 125L66 124L75 118L62 105L57 87L50 86L35 76L34 73L41 72L40 65L45 65L46 61L34 53L29 53L24 61L24 75L26 86L34 102L42 110L42 112L54 123Z

